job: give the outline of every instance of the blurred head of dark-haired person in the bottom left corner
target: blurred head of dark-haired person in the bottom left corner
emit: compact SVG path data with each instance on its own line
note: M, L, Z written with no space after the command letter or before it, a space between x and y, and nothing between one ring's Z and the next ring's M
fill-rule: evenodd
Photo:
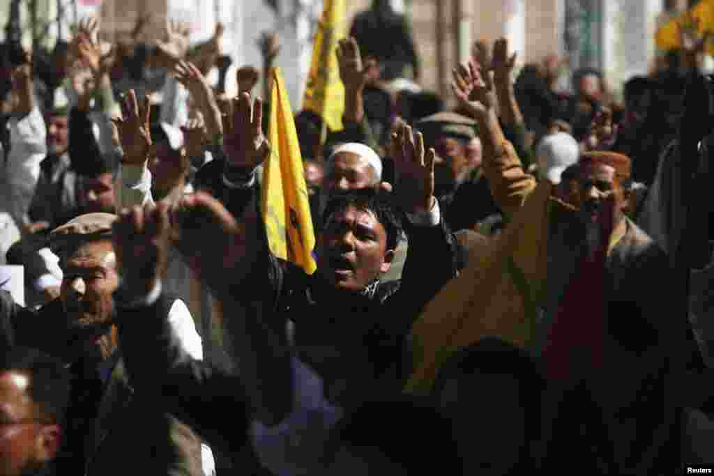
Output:
M39 350L0 355L0 474L46 475L64 442L69 373Z

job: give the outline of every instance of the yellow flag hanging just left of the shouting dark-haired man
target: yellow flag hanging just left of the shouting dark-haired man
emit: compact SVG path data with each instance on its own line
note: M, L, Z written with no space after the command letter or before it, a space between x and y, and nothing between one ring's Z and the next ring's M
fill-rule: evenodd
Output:
M303 172L295 120L279 68L273 68L271 88L271 156L263 165L262 210L268 245L277 258L312 274L317 266L310 202Z

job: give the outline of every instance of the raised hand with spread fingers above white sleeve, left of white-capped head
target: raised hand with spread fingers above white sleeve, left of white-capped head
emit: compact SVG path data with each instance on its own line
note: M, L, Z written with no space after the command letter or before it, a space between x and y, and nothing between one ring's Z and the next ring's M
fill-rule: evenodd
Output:
M122 117L111 120L119 133L121 148L124 149L122 163L140 166L149 157L149 148L151 147L150 112L149 97L144 98L140 107L136 101L134 89L129 90L129 94L121 103Z

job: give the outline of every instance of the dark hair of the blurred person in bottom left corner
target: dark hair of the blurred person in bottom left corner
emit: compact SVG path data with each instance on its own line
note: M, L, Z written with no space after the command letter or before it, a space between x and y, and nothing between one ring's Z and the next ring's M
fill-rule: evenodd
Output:
M27 393L39 406L41 418L61 424L69 405L70 376L60 360L33 348L17 346L0 358L0 372L28 375Z

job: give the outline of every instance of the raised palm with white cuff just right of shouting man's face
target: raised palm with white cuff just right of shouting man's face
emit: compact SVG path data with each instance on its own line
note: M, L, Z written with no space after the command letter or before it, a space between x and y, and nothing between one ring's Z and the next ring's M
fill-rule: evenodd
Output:
M431 211L434 206L434 158L433 148L424 151L421 132L413 133L403 124L393 134L393 150L396 152L396 198L404 211L416 213Z

